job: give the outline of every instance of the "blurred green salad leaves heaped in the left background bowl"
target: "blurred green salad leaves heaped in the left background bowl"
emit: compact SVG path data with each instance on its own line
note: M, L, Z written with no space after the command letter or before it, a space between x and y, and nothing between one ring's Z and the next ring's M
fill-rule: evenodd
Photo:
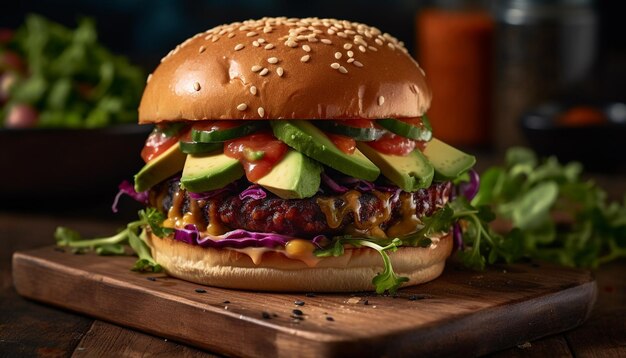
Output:
M83 18L76 29L69 29L29 15L15 36L0 44L0 54L4 51L17 54L27 68L11 73L14 81L0 119L14 106L28 105L39 113L37 127L97 128L137 122L146 77L98 42L92 20Z

